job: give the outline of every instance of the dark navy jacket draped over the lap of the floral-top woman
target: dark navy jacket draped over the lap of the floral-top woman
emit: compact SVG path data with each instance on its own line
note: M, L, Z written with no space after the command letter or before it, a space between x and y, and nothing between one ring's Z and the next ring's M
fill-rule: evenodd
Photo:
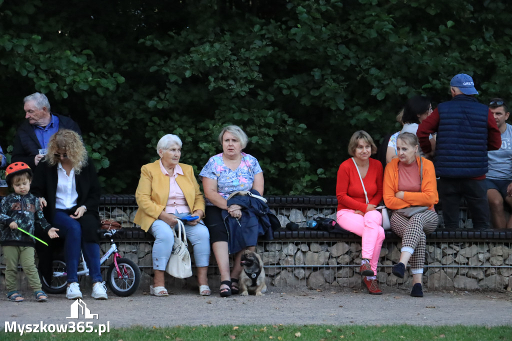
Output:
M250 192L260 195L255 189L251 189ZM264 201L239 195L227 201L228 206L233 204L242 206L242 217L238 221L231 217L227 210L222 210L229 236L229 253L237 253L247 246L256 245L259 236L265 236L266 240L274 239L272 228L281 227L281 223Z

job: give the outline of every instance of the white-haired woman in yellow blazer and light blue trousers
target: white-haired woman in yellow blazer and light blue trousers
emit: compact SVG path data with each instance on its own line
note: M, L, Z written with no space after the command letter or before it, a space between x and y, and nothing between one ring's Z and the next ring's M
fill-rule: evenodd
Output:
M157 144L160 157L141 168L135 198L139 209L135 223L155 237L153 244L154 285L150 293L167 296L164 287L164 271L174 245L174 233L178 214L191 213L198 218L185 225L187 239L194 246L199 294L211 294L207 270L210 259L208 229L200 221L204 217L205 203L192 166L179 163L182 142L176 135L167 134Z

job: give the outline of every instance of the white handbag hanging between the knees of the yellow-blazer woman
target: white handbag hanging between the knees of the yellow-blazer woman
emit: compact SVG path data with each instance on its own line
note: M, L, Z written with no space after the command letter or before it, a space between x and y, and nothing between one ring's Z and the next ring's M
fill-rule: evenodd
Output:
M185 233L185 225L178 219L178 236L176 229L174 232L173 252L170 254L169 261L165 271L176 278L188 278L192 275L192 265L190 262L190 253L188 252L187 235ZM183 239L181 232L183 231Z

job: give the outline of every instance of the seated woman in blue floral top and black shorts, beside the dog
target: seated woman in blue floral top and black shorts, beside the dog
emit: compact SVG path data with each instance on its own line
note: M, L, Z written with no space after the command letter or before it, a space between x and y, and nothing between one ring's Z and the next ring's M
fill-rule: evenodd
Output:
M241 250L235 254L233 269L230 272L228 232L222 211L227 210L233 218L241 218L241 206L227 206L229 195L236 191L255 189L262 196L264 189L263 171L258 160L242 152L247 141L247 135L239 126L224 127L219 134L223 153L212 156L199 174L206 197L205 223L210 230L211 248L219 266L222 297L239 293L238 282L242 271L240 258L243 252ZM245 245L245 248L253 251L256 243L257 241L254 241L253 245Z

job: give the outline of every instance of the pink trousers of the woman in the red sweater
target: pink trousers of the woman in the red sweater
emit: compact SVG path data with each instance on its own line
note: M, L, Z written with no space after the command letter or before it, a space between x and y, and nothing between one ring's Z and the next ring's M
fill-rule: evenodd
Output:
M369 259L372 271L377 273L380 249L385 238L380 212L372 210L361 216L354 213L353 209L340 209L336 221L339 226L361 237L361 258Z

